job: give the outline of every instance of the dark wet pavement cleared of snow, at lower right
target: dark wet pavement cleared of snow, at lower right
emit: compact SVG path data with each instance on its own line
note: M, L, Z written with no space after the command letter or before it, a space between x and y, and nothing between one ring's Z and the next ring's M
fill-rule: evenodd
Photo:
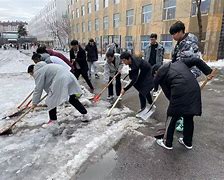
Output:
M102 80L93 80L96 92ZM193 149L186 150L174 136L174 149L159 147L153 138L164 127L168 101L162 95L157 109L145 127L127 134L102 160L89 165L81 180L224 179L224 69L202 92L203 114L195 117ZM107 92L102 96L106 98ZM138 93L132 88L121 102L133 111L139 109Z

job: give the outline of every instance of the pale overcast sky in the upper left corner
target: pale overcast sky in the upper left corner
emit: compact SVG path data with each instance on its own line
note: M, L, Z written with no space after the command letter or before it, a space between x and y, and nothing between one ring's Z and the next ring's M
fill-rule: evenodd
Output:
M0 21L26 21L34 17L50 0L0 0Z

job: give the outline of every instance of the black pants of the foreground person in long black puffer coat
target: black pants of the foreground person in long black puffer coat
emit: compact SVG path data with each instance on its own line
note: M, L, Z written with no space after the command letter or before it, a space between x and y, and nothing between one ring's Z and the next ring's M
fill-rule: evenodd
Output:
M193 115L184 115L182 116L184 118L184 131L183 131L183 141L187 146L192 146L192 138L193 138L193 132L194 132L194 121ZM176 122L179 120L180 116L173 116L168 122L168 128L166 132L166 146L172 147L173 142L173 134L176 127Z

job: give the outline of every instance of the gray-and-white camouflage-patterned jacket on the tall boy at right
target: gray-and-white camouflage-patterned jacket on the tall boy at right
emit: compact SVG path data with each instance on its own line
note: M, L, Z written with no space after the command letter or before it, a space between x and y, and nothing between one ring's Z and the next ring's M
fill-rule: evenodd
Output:
M191 33L186 33L184 39L176 44L172 52L172 62L188 58L200 58L198 38ZM191 72L195 77L199 77L201 75L201 71L196 67L193 67Z

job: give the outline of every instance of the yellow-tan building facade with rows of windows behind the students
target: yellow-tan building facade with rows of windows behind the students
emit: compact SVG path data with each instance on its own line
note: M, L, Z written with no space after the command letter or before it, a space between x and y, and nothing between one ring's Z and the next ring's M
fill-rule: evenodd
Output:
M224 58L224 1L202 0L203 56ZM142 52L151 33L165 47L166 56L175 45L170 26L183 21L186 31L198 35L195 0L70 0L71 38L87 43L95 38L99 49L116 42L135 53Z

